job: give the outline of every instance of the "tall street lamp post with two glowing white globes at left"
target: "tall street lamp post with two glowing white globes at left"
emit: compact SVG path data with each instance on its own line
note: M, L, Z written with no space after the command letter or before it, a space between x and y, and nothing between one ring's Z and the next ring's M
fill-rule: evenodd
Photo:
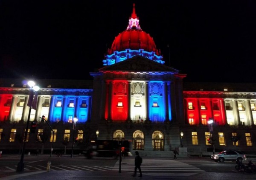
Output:
M23 145L22 145L22 152L20 156L20 162L17 165L17 172L23 172L24 171L24 153L25 153L25 147L26 147L26 138L28 135L28 129L29 129L29 121L30 121L30 114L31 114L31 109L33 105L33 99L34 99L34 92L38 91L40 88L38 86L35 86L35 82L29 81L28 85L30 87L29 89L29 101L28 101L28 106L29 106L29 114L28 114L28 119L27 119L27 124L26 124L26 130L25 130L25 135L23 138Z

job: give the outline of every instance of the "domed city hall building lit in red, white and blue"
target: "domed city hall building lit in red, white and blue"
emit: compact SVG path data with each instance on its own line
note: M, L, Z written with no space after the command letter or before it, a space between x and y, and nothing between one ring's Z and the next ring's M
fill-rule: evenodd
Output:
M37 92L26 79L0 79L0 151L20 151L28 120L27 152L70 151L74 139L77 153L97 139L131 141L142 156L256 151L256 84L183 82L140 28L135 5L102 63L93 80L37 79Z

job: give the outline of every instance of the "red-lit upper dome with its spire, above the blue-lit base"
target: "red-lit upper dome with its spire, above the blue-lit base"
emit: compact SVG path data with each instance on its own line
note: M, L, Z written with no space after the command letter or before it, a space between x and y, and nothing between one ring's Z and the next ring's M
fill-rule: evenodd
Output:
M125 51L125 49L143 49L148 52L153 51L158 56L160 55L160 51L157 50L153 38L140 28L139 18L135 13L135 4L127 29L114 39L111 49L108 49L108 54L110 55L115 51Z

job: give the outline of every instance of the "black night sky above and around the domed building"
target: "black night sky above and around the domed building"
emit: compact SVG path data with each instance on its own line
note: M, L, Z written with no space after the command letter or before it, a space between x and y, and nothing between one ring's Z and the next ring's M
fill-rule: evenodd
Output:
M90 79L135 3L184 81L256 82L255 0L149 2L0 0L0 78Z

